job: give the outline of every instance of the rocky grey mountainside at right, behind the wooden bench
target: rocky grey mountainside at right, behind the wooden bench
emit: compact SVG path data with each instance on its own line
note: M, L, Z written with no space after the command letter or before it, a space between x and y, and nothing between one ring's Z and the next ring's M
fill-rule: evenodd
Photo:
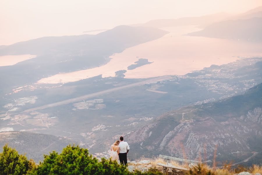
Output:
M262 149L261 84L244 95L187 106L158 117L129 136L134 155L166 154L202 161L242 160Z

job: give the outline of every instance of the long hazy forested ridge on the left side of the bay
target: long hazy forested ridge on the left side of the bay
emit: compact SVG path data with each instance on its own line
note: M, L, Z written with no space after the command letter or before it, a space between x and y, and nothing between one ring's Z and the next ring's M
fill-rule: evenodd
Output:
M107 64L126 48L155 40L167 31L149 27L117 26L96 35L43 37L0 47L0 56L31 54L37 57L0 67L1 90L36 83L41 78Z

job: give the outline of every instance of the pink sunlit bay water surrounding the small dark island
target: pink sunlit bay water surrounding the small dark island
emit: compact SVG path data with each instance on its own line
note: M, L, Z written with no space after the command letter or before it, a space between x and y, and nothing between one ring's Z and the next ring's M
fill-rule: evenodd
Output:
M163 75L185 75L194 70L221 65L240 59L262 55L257 43L217 38L193 37L185 34L199 30L194 26L168 27L162 38L143 43L112 55L109 63L93 69L57 74L38 83L67 83L102 74L114 77L115 72L127 70L125 78L149 78ZM153 62L133 70L127 67L139 58Z

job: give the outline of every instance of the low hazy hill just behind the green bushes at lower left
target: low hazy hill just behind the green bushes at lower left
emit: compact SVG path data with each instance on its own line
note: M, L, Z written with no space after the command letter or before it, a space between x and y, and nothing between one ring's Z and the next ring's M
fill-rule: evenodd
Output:
M68 144L75 142L47 134L17 131L0 132L0 152L3 151L3 146L6 143L8 143L8 146L15 148L18 153L26 153L28 159L33 159L36 163L39 163L40 160L44 159L44 154L48 154L53 150L61 152Z

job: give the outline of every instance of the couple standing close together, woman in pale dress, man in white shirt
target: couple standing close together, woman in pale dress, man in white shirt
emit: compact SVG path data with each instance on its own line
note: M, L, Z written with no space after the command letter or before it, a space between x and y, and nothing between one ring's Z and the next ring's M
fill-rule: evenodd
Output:
M111 145L111 160L120 160L120 163L127 165L127 154L129 151L129 145L124 141L124 137L120 137L120 141L117 140L113 145Z

